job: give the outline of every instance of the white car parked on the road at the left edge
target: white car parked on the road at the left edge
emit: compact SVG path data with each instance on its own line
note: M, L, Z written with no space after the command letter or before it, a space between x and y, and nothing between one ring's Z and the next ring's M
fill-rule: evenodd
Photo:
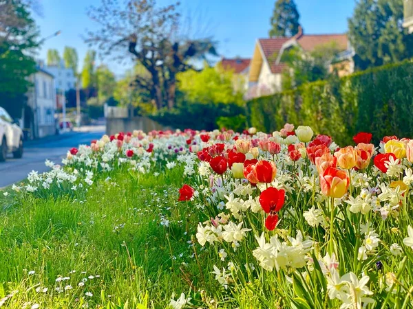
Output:
M0 161L6 160L8 152L16 159L23 157L23 131L0 107Z

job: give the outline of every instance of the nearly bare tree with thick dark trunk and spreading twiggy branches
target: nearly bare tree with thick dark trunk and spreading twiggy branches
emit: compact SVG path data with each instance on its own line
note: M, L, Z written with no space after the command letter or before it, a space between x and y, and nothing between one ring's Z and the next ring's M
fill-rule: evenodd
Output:
M218 56L211 38L191 39L180 30L179 3L158 8L155 0L102 0L89 16L100 23L100 30L89 32L87 42L97 45L100 54L125 52L145 67L146 76L136 75L135 84L149 91L157 108L173 108L176 98L176 74L192 69L191 60ZM188 30L186 30L188 31Z

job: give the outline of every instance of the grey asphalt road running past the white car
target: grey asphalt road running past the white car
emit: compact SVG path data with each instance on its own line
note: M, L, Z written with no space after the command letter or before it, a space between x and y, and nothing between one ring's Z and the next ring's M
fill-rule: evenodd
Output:
M67 150L80 144L90 144L90 141L99 139L103 134L103 126L87 127L81 131L26 142L22 159L13 159L12 155L9 155L6 162L0 162L0 188L22 181L32 170L50 170L45 166L45 159L61 163Z

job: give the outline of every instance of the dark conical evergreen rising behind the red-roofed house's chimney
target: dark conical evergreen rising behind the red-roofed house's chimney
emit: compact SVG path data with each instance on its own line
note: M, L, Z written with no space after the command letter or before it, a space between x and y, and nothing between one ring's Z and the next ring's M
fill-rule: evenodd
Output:
M271 16L270 36L294 36L298 27L299 12L294 0L277 0Z

